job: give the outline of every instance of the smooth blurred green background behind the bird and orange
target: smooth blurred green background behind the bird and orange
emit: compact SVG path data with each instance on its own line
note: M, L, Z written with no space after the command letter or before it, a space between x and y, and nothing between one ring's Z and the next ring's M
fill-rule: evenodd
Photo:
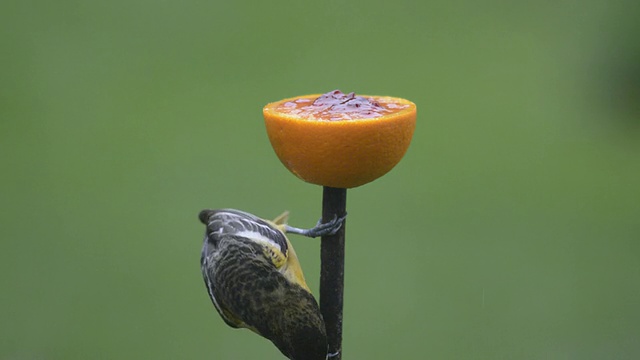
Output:
M280 359L211 305L197 213L315 224L261 109L337 88L419 109L349 191L345 358L639 358L639 8L3 1L0 359Z

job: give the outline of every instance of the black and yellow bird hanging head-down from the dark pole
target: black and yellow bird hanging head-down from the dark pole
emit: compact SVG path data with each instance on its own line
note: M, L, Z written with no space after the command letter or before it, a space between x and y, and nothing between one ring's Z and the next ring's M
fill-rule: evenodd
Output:
M233 209L203 210L200 264L213 305L227 325L271 340L293 360L324 360L327 335L285 232L310 237L335 233L341 219L308 230Z

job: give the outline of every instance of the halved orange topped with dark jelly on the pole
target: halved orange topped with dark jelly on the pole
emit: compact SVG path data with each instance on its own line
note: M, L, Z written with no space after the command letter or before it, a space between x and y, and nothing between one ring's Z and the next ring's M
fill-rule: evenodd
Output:
M263 115L271 145L289 171L309 183L353 188L402 159L415 129L416 105L336 90L267 104Z

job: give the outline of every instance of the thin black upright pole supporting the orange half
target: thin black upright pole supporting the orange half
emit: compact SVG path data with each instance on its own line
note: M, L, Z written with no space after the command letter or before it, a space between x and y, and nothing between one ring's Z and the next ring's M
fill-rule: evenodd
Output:
M343 217L347 209L347 189L322 188L322 222ZM345 222L334 235L323 236L320 245L320 312L327 327L331 360L342 359L342 304L344 294Z

